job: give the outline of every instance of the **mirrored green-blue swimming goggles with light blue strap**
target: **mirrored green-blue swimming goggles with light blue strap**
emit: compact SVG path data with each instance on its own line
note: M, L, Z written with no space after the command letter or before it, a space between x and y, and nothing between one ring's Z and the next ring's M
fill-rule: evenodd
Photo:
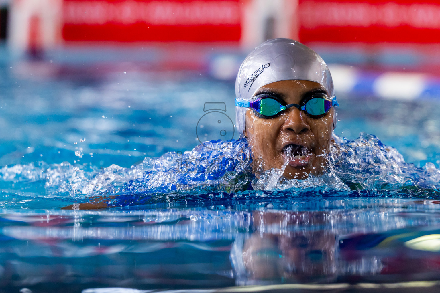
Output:
M326 94L312 94L306 101L298 104L282 105L279 98L270 94L260 94L253 98L253 101L239 101L235 99L235 105L238 107L246 107L255 110L262 118L274 118L291 107L296 107L305 111L312 118L319 118L326 114L331 107L339 106L336 97L330 99Z

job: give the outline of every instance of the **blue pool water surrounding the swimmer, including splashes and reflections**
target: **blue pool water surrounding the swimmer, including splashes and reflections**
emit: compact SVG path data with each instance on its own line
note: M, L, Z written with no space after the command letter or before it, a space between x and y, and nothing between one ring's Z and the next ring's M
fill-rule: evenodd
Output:
M233 82L49 60L0 75L7 292L439 279L440 100L338 96L329 171L286 181L251 174ZM200 145L218 117L234 140ZM88 202L110 208L61 210Z

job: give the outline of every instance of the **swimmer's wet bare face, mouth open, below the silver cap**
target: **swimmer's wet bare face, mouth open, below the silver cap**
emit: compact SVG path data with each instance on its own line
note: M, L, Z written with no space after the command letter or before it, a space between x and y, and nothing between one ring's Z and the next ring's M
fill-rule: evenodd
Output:
M301 105L312 94L320 92L326 93L319 83L283 80L260 87L254 95L271 94L285 105ZM253 109L247 109L245 122L255 164L260 164L263 170L280 169L287 164L283 176L288 179L305 179L308 174L323 173L333 131L334 107L319 118L312 118L296 107L274 118L257 115Z

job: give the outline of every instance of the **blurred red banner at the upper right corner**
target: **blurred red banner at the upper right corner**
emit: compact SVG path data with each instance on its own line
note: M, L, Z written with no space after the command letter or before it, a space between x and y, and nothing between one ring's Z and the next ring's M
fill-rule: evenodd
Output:
M304 43L440 42L438 0L299 0L298 18Z

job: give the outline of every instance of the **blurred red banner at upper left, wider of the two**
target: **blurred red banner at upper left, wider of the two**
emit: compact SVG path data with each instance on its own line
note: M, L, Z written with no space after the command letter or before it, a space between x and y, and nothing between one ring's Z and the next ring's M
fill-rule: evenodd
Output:
M65 41L238 42L238 0L63 0Z

